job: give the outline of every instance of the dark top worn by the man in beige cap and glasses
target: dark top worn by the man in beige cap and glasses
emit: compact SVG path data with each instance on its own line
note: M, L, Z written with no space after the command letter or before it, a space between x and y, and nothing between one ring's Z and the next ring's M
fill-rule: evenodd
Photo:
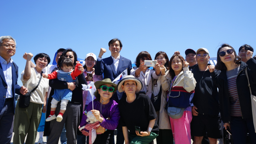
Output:
M215 70L215 72L216 74L220 73L218 70ZM196 111L199 114L218 115L220 113L218 90L211 78L209 69L202 75L198 65L196 65L194 69L192 69L192 73L196 79L196 88L193 98L194 106L197 108Z

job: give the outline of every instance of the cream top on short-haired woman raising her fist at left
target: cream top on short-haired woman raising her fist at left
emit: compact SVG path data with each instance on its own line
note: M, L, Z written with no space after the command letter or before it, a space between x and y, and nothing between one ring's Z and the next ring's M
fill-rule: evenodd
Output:
M44 72L44 74L46 74ZM22 81L23 86L28 88L28 92L31 92L38 84L41 74L36 71L35 68L31 68L31 76L27 81L23 79L24 70L21 73L20 80ZM34 92L32 92L30 96L30 102L34 102L36 104L44 104L44 96L45 93L48 92L49 88L49 79L42 78L39 86L36 88ZM20 99L20 96L18 97Z

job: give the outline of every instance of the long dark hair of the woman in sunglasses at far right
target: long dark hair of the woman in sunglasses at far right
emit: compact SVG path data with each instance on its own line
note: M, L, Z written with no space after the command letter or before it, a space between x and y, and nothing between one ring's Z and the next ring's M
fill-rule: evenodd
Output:
M234 48L232 46L230 46L229 44L222 44L220 46L220 48L218 49L218 52L217 52L217 64L215 66L215 68L217 70L227 70L227 67L226 65L220 60L220 55L219 55L219 52L220 52L220 49L224 48L224 47L229 47L229 48L232 48L234 50ZM241 58L240 56L236 55L236 51L234 50L234 54L235 54L235 60L234 60L234 63L235 64L241 64Z

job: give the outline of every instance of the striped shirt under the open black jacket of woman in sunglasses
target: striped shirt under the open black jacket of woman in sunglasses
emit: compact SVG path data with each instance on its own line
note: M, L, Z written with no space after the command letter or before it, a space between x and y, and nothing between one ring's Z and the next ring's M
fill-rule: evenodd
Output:
M236 88L236 78L239 73L239 69L240 67L226 72L226 75L228 78L228 94L229 94L231 116L242 116L240 102L238 99L238 93Z

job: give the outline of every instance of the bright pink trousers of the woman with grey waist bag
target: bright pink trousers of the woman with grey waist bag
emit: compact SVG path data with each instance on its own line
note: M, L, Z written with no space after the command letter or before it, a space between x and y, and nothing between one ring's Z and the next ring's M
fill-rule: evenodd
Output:
M179 119L170 117L172 135L175 144L191 144L190 122L192 120L192 112L184 111L183 116Z

